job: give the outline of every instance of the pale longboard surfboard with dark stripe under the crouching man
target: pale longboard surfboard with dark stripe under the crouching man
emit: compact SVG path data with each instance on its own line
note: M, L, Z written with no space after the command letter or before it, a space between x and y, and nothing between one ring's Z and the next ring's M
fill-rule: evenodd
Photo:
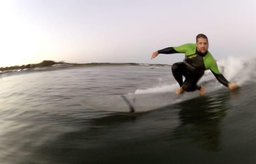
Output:
M119 113L141 113L201 96L198 91L176 95L175 92L140 93L89 97L80 101L88 109Z

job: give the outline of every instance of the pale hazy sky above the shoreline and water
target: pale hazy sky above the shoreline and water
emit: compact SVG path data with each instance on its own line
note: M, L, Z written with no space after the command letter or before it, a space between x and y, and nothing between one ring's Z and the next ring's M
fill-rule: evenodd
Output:
M43 60L172 64L206 34L217 60L255 56L256 0L0 0L0 67Z

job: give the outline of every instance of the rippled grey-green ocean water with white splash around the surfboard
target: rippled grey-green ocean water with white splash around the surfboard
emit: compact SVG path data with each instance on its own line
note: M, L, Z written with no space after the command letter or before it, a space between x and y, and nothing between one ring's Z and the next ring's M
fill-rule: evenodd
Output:
M144 113L92 110L79 101L174 93L178 85L171 67L96 66L1 74L0 163L256 163L256 60L228 58L218 66L241 88L230 91L206 71L200 83L212 90L205 96Z

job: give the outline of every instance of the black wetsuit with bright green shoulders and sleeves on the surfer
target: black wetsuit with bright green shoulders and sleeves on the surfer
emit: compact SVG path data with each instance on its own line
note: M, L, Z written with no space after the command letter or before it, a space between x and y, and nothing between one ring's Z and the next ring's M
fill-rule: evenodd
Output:
M180 87L185 91L200 90L201 86L198 86L197 82L207 69L212 71L212 74L214 74L221 84L226 87L228 86L229 82L218 70L218 66L212 54L209 51L204 54L198 52L196 44L189 43L178 47L164 48L157 52L158 54L185 54L183 62L177 62L172 65L172 74ZM182 76L185 76L184 82Z

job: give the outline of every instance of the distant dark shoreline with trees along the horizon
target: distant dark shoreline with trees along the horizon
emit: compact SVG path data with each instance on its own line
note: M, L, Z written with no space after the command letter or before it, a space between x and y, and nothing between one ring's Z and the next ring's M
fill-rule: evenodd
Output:
M77 63L67 63L67 62L54 62L52 60L44 60L38 64L28 64L28 65L21 65L21 66L11 66L11 67L1 67L0 73L4 72L11 72L11 71L26 71L35 68L44 68L44 67L54 67L54 68L68 68L68 67L87 67L87 66L121 66L121 65L134 65L134 66L171 66L167 64L144 64L144 63L84 63L84 64L77 64Z

